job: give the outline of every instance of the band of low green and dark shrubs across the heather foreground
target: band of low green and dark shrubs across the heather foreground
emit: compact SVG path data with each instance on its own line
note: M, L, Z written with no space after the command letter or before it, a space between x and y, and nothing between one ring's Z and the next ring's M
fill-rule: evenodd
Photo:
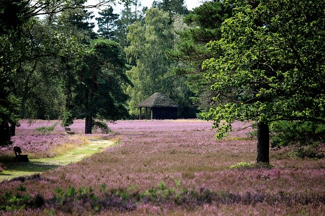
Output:
M0 214L8 211L21 211L23 209L52 209L52 214L69 213L74 214L83 209L90 214L98 214L104 210L113 211L132 211L140 204L152 204L153 206L182 206L192 209L195 206L204 204L243 204L255 205L257 203L267 203L270 205L284 204L291 206L293 203L306 204L325 204L323 196L289 194L278 192L276 194L263 193L234 193L229 191L212 192L206 188L197 190L180 188L180 182L175 181L176 188L169 188L164 182L160 182L157 187L152 187L145 192L137 191L136 186L130 186L126 189L116 189L106 191L106 186L102 185L99 193L95 194L91 187L81 187L75 189L69 187L66 190L55 189L55 194L50 199L44 199L42 195L31 196L26 188L20 185L19 193L13 195L6 192L0 197Z

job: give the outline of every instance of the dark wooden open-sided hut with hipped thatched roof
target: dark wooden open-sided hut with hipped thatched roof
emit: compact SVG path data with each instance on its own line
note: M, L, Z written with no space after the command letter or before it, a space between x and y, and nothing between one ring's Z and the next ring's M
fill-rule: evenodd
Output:
M142 107L146 109L146 119L148 108L151 110L151 119L177 119L178 104L160 92L156 92L140 102L138 107L140 108L140 120Z

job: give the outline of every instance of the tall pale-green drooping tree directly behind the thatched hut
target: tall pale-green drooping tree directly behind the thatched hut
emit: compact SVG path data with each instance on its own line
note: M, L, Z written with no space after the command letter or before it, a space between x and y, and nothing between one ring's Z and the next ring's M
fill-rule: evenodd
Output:
M128 109L133 116L139 114L138 103L155 92L162 92L177 102L180 117L195 116L195 107L189 100L192 94L184 79L172 70L173 62L167 56L177 40L169 19L167 12L151 8L146 12L144 23L138 21L128 26L129 46L124 51L134 66L126 73L134 86L125 91L130 95Z

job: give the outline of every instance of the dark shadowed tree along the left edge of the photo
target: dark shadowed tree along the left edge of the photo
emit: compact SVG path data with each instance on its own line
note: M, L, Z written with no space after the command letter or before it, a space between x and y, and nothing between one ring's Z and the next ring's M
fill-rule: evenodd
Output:
M28 41L21 31L29 20L21 17L21 11L28 9L26 2L2 1L0 7L0 145L11 143L18 122L17 97L12 92L11 80L21 67L21 60L28 57ZM24 53L19 53L20 50ZM18 53L17 53L18 51ZM10 124L10 125L9 125Z

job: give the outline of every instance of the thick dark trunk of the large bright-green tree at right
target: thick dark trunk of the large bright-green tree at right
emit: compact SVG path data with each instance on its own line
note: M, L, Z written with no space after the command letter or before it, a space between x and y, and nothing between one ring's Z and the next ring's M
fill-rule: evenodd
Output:
M257 158L256 163L270 163L270 134L268 123L257 123Z

